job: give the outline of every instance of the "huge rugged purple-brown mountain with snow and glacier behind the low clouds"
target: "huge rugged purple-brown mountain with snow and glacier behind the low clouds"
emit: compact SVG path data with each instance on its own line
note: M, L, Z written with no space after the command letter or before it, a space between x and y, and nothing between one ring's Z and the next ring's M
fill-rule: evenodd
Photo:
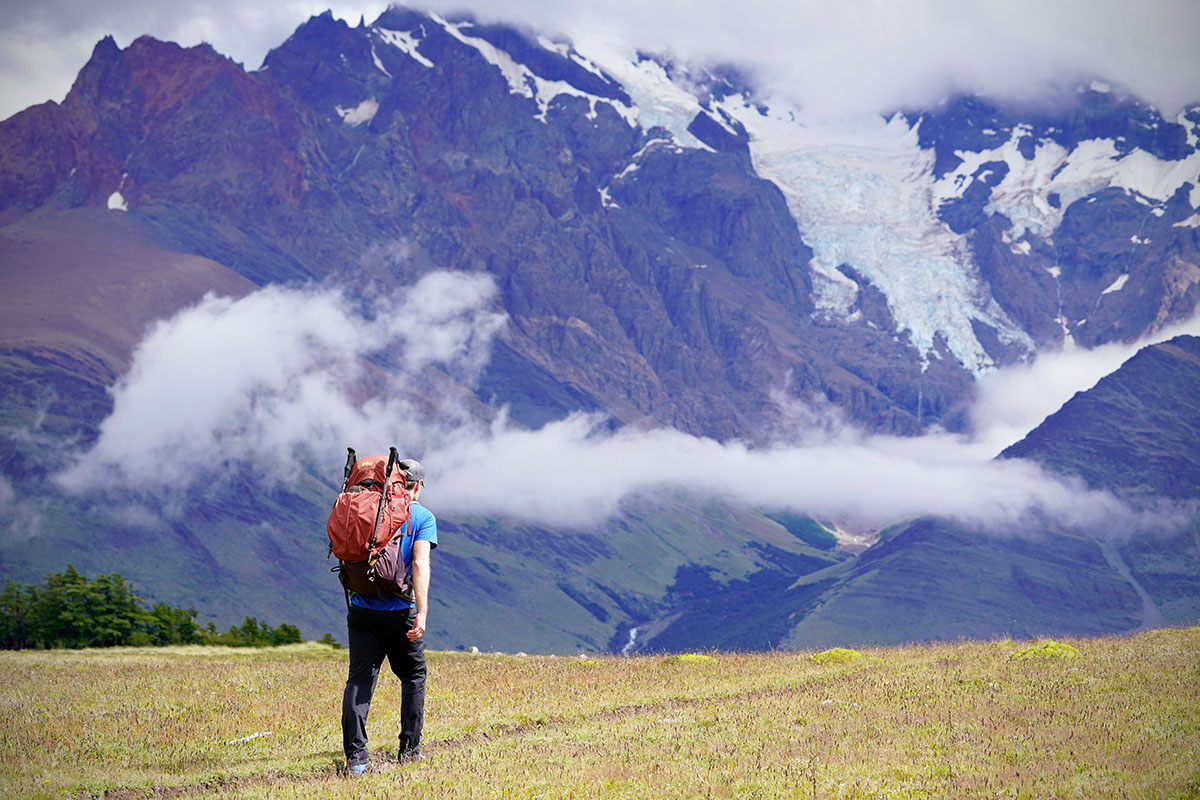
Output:
M400 7L356 28L314 17L253 72L206 46L106 38L61 104L0 122L0 569L36 578L74 559L222 622L338 630L307 533L336 453L282 485L230 452L169 492L55 488L148 331L208 293L336 284L366 305L438 270L487 276L506 319L490 359L428 365L409 390L528 429L586 413L767 445L790 407L827 404L868 432L964 431L995 366L1195 312L1198 131L1200 107L1164 119L1102 84L1051 110L964 96L817 124L733 67ZM721 643L763 646L794 639L780 608L830 614L822 593L846 595L889 545L946 557L913 555L941 522L856 557L720 499L644 499L578 530L439 519L454 541L439 581L469 591L439 597L434 633L460 646L616 648L637 627L685 648L697 609L728 593L755 632ZM1070 548L1097 591L1127 597L1086 540ZM1061 583L1058 555L1021 558L1028 582ZM989 619L1012 619L1004 602Z

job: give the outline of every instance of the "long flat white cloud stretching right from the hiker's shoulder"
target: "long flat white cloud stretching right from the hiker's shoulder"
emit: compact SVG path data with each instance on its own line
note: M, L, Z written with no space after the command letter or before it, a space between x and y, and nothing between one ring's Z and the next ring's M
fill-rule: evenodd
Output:
M620 500L688 492L761 509L791 509L878 529L923 515L1008 527L1033 515L1062 525L1128 516L1115 498L1034 464L979 458L954 437L860 437L751 449L671 429L605 431L576 415L540 431L497 425L426 459L428 499L448 509L587 527ZM497 480L497 474L505 476Z

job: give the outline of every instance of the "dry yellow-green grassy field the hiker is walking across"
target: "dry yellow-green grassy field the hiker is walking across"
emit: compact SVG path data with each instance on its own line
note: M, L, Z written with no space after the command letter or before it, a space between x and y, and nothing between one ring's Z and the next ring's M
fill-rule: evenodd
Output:
M431 654L338 775L346 652L0 654L5 796L1196 798L1200 628L826 654Z

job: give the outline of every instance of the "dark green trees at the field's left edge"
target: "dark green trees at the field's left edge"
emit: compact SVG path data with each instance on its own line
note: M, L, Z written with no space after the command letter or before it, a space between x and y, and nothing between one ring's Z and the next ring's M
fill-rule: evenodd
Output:
M121 575L88 579L73 566L47 572L41 585L6 581L0 591L0 648L109 648L169 644L275 646L301 642L300 628L271 627L253 616L221 633L200 626L194 606L146 606ZM326 634L328 636L328 634ZM331 638L331 637L330 637Z

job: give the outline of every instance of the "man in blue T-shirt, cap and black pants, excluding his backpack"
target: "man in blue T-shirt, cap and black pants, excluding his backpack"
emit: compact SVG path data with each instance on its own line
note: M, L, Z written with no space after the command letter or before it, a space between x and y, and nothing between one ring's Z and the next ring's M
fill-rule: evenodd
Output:
M342 696L342 746L350 775L367 770L366 720L371 696L384 657L400 678L403 696L400 705L401 763L421 756L421 724L425 718L425 620L428 613L430 551L438 546L433 513L420 505L425 468L413 458L397 464L412 493L408 519L396 536L401 540L403 564L413 570L413 601L396 595L378 597L352 595L346 613L350 643L350 669Z

